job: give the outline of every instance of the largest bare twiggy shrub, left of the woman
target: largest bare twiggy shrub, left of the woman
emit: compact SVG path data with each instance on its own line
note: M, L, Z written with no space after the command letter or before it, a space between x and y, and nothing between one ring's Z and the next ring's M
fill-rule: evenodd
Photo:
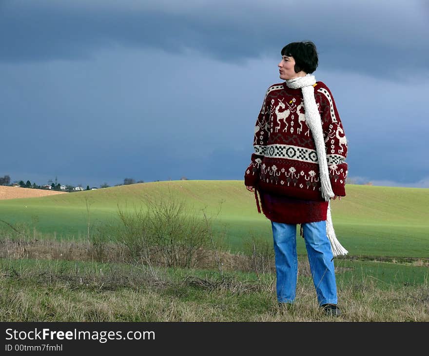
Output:
M146 197L133 212L118 206L122 230L118 241L130 255L146 264L195 267L206 257L212 241L211 221L169 192L167 197Z

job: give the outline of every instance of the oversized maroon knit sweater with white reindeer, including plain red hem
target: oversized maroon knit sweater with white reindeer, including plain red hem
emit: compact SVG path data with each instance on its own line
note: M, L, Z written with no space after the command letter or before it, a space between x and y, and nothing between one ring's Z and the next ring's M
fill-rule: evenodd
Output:
M329 88L314 85L322 119L332 191L345 196L347 140ZM286 83L270 86L258 115L254 154L244 183L254 186L262 210L272 221L304 223L326 220L328 202L322 198L319 164L311 131L305 121L301 89Z

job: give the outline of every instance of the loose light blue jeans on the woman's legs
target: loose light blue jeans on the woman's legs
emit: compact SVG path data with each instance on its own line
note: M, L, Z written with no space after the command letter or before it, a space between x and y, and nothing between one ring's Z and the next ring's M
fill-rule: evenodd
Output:
M296 224L271 222L274 239L277 300L293 303L296 294L298 257ZM313 283L319 305L337 304L337 288L331 243L326 235L326 221L302 224Z

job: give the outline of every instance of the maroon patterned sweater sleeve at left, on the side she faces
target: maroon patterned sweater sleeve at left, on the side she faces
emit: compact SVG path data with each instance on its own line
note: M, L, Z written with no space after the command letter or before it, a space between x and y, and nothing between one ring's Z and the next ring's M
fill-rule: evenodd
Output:
M269 92L270 89L265 93L264 102L262 103L262 108L259 112L258 118L256 119L254 127L254 153L252 154L250 165L244 173L244 184L247 186L257 185L262 158L264 158L267 148L267 142L270 135L269 122L271 111L271 103L267 102Z

